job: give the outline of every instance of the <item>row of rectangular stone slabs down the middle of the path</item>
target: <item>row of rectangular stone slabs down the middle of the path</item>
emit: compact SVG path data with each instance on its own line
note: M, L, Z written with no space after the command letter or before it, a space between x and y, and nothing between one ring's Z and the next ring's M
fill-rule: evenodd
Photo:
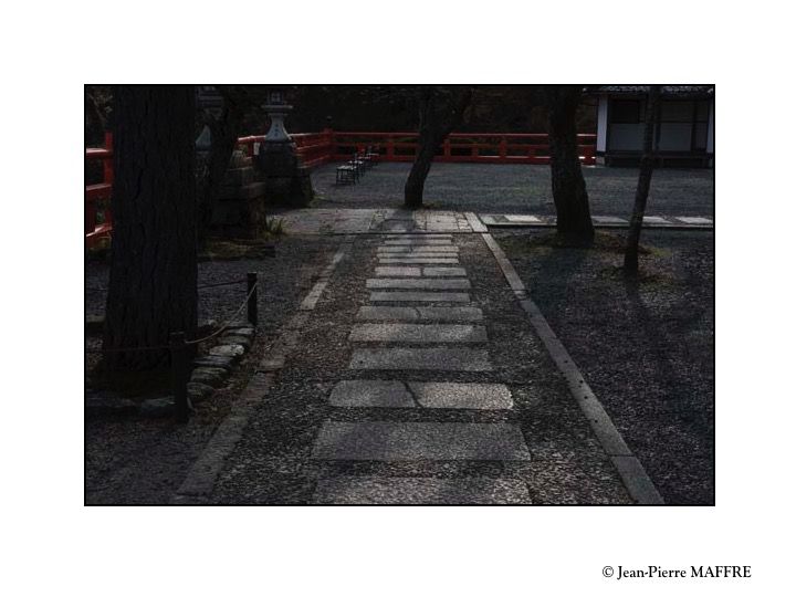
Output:
M373 379L343 380L332 391L329 404L343 408L418 408L505 410L513 406L504 384L446 381L448 371L489 371L486 328L481 310L472 304L471 283L459 266L459 249L450 234L386 235L376 249L375 274L367 289L411 289L411 292L373 292L360 322L352 326L349 342L356 348L349 369L369 369ZM394 255L415 255L394 265ZM450 268L417 266L439 262L434 255L450 255ZM426 255L429 259L420 259ZM433 292L432 292L433 291ZM439 292L437 292L439 291ZM455 291L455 292L454 292ZM418 303L449 303L436 306L421 318ZM467 307L460 306L461 303ZM374 311L381 308L383 311ZM421 307L422 308L422 307ZM365 311L363 311L365 310ZM368 311L369 310L369 311ZM468 311L463 311L468 310ZM434 321L437 317L438 321ZM463 317L468 323L448 323ZM374 321L383 323L370 323ZM367 323L363 323L367 322ZM409 323L404 323L409 322ZM442 323L446 322L446 323ZM368 343L389 343L388 348L369 348ZM423 348L418 345L446 345ZM470 345L479 348L470 348ZM450 347L449 347L450 346ZM439 381L404 383L383 379L385 371L422 369L434 371ZM334 412L324 422L313 449L318 460L422 461L524 461L531 458L522 431L514 423L495 422L337 422ZM465 476L429 479L405 476L337 476L318 483L315 501L322 503L530 503L527 489L513 480Z

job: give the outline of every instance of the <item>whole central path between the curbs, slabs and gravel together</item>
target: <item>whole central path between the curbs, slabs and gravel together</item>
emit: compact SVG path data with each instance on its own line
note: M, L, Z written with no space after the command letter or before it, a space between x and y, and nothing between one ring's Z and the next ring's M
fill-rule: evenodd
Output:
M346 243L202 503L632 502L482 234Z

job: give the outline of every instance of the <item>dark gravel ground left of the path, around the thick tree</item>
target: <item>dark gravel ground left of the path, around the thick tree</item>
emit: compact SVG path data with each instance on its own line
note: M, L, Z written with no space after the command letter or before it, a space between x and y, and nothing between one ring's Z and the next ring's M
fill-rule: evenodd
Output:
M178 426L170 419L154 420L91 417L85 421L85 500L90 504L167 503L185 479L216 426L229 411L254 365L274 341L275 332L295 311L315 275L335 250L339 239L286 237L276 245L276 258L213 261L199 264L199 284L243 277L256 271L264 283L259 293L260 328L252 350L227 384L210 400L197 407L190 422ZM86 289L107 286L106 263L86 264ZM264 287L264 290L262 290ZM200 320L223 322L234 314L245 296L244 283L200 291ZM86 293L86 313L103 312L104 295ZM98 338L88 336L88 346ZM91 365L91 362L88 362Z

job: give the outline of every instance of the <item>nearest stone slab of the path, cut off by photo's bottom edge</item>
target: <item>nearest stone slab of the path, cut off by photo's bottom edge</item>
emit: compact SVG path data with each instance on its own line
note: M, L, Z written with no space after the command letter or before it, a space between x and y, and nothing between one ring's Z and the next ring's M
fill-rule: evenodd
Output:
M316 504L530 504L527 486L515 479L464 476L336 476L315 486Z

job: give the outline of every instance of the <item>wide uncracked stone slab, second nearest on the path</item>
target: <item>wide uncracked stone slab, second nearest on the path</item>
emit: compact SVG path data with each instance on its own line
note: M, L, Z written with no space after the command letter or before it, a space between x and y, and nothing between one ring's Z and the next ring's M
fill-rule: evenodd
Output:
M530 460L522 431L511 423L326 421L316 460Z

